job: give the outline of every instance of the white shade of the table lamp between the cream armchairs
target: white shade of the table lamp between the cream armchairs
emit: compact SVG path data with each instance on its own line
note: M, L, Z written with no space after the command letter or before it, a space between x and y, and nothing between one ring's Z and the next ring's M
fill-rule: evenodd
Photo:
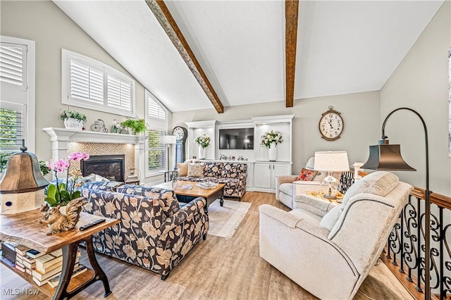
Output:
M346 151L315 152L314 170L328 172L345 172L350 170Z

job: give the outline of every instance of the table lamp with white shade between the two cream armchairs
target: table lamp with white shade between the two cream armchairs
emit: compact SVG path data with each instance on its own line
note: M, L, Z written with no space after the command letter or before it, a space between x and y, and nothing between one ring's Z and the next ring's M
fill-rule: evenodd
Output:
M319 151L315 152L314 170L327 172L326 178L323 180L327 182L328 192L324 194L326 199L337 199L335 194L332 194L332 186L338 182L337 178L333 177L334 172L346 172L350 170L350 164L347 160L346 151Z

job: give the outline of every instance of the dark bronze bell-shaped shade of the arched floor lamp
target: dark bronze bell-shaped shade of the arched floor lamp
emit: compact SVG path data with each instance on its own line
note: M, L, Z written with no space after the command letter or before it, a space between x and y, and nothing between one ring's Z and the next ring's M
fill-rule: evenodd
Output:
M416 171L404 161L400 145L379 144L369 146L369 158L362 167L369 170L411 170Z

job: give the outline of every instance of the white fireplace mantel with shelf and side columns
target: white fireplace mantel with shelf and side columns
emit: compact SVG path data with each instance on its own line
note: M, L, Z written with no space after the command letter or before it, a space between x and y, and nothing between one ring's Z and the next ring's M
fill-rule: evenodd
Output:
M57 161L68 156L68 143L110 143L110 144L135 144L135 168L144 170L145 135L121 135L118 133L94 132L86 130L73 130L66 128L46 127L42 128L51 141L51 158Z

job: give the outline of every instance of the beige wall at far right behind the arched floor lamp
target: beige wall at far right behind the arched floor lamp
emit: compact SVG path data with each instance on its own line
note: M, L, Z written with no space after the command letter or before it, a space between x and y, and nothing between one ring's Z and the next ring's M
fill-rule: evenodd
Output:
M448 61L451 46L450 1L445 1L431 23L381 89L382 124L390 111L409 107L418 111L428 128L430 189L451 195L451 158L447 152ZM417 187L426 187L424 129L421 120L409 111L390 117L385 135L392 144L401 144L405 161L417 172L398 173Z

